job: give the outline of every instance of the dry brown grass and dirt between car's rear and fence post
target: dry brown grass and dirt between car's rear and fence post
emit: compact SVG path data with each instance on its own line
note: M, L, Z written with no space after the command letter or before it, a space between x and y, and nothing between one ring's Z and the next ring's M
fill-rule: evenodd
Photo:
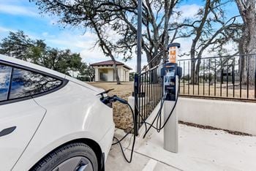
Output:
M117 95L122 99L128 100L129 96L132 96L133 82L121 83L117 85L116 83L105 83L105 82L91 82L92 86L103 88L105 90L114 88L113 91L108 93L109 96ZM116 123L116 127L119 129L124 129L126 132L132 129L132 113L128 106L121 104L119 102L113 103L113 120Z

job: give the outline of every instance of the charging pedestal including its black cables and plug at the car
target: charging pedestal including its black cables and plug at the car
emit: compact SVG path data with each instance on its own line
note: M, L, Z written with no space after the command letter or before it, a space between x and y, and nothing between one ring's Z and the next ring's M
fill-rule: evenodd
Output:
M145 120L142 119L142 123L145 123L145 125L150 125L147 129L146 127L146 132L143 135L143 138L146 137L146 134L151 128L157 129L157 132L160 132L161 129L164 129L164 149L166 151L170 151L173 153L178 153L178 113L176 111L176 104L178 102L178 88L179 88L179 79L181 78L182 75L182 69L178 64L176 64L176 58L177 58L177 53L178 53L178 48L181 47L179 43L171 43L168 45L168 50L169 50L169 60L168 61L163 61L163 66L161 69L161 77L162 77L162 101L161 105L159 108L159 111L157 115L154 118L154 121L152 123L148 123ZM166 52L167 50L162 50L162 52ZM154 58L156 58L155 56ZM137 80L137 81L136 81ZM135 77L135 83L136 85L138 84L138 75L137 78ZM135 86L138 88L139 86ZM135 89L136 89L135 88ZM105 104L112 104L112 102L121 102L123 104L127 104L129 106L129 109L132 111L132 119L133 119L133 124L134 124L134 132L137 131L137 122L135 121L135 113L133 113L132 106L127 102L125 99L121 99L118 96L104 96L104 94L107 94L109 91L102 92L101 95L101 101ZM131 104L135 104L135 101L133 101ZM135 104L136 106L136 104ZM137 110L138 111L138 110ZM163 118L164 118L164 124L162 125L162 119L161 115L163 113ZM138 113L140 117L140 113ZM143 117L142 117L143 118ZM155 121L157 121L157 126L153 126ZM127 134L129 134L128 132ZM131 155L130 159L127 159L127 156L125 156L123 148L121 146L121 141L124 140L125 137L127 137L127 134L124 135L124 137L121 138L121 140L118 140L116 137L116 142L113 143L119 144L121 147L121 151L124 155L124 159L127 162L132 161L132 153L134 151L135 147L135 139L136 139L136 134L133 134L133 142L132 142L132 150L131 150Z

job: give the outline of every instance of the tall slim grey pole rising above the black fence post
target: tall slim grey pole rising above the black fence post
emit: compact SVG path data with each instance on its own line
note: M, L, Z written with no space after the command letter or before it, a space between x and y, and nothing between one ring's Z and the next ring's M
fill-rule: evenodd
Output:
M142 0L138 0L138 29L137 29L137 72L141 70L141 23Z

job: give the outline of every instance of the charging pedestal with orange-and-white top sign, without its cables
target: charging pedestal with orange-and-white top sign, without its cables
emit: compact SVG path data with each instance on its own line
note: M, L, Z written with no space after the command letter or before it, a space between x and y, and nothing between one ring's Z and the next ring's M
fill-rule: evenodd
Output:
M164 148L166 151L178 153L178 113L176 103L178 97L178 80L182 75L182 69L176 64L179 43L168 45L169 61L162 68L163 77L163 113L164 121Z

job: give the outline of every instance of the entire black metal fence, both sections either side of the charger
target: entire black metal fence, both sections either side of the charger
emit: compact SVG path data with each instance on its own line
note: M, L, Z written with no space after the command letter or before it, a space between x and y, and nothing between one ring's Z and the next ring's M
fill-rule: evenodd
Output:
M181 59L179 95L256 102L256 54ZM162 65L135 74L135 120L138 129L162 99Z

